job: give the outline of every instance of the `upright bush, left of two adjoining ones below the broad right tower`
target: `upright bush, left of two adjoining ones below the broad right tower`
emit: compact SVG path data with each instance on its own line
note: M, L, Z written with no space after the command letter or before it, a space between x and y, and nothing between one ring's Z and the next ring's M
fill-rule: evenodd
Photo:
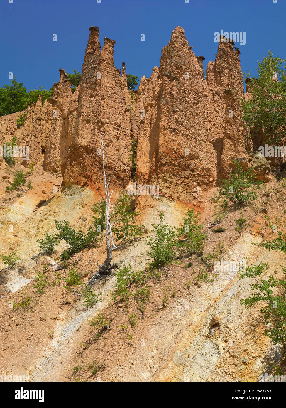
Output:
M146 243L150 250L146 252L150 258L153 258L151 265L162 266L174 258L174 239L176 236L175 228L170 228L164 224L164 212L160 211L160 222L153 225L155 238L147 237Z

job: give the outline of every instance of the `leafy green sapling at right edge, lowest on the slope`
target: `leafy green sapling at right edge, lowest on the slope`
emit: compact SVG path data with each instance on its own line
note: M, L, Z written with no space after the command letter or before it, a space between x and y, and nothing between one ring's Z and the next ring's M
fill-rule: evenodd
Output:
M284 279L275 279L272 275L268 279L261 277L268 269L268 264L260 263L255 266L247 266L245 273L239 275L239 279L249 277L255 280L251 283L251 296L241 299L240 303L248 309L257 302L263 302L260 312L263 314L263 324L266 326L264 336L268 336L273 344L280 343L286 351L286 267L282 267ZM265 275L265 273L264 273ZM282 294L274 295L272 288L279 288Z

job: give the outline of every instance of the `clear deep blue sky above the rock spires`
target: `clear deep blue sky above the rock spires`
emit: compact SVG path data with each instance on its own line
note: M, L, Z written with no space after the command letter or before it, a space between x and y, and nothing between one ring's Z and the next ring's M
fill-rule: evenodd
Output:
M49 89L59 68L81 71L90 26L99 27L101 47L105 36L116 40L116 68L124 61L139 79L159 65L176 26L184 28L195 55L206 58L204 69L215 60L214 32L221 29L245 31L246 45L238 45L245 73L256 74L268 49L286 59L285 0L1 0L0 16L0 86L10 84L10 71L27 90Z

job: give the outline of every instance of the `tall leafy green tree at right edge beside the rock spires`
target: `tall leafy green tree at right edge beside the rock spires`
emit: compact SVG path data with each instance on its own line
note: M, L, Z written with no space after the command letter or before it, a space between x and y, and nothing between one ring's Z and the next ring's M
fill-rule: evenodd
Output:
M249 78L253 99L242 100L242 118L251 131L263 129L269 145L280 146L286 137L286 60L271 51L258 62L258 76ZM250 135L251 137L251 135ZM281 171L284 170L279 157Z

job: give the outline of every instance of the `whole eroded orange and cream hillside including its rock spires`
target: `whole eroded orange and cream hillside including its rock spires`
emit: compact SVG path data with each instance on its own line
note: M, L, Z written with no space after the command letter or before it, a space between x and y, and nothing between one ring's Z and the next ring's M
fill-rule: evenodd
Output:
M93 223L93 205L104 194L98 171L103 138L108 175L116 165L114 196L133 188L132 209L140 211L133 223L144 225L139 239L114 251L117 265L131 262L134 271L148 265L160 211L168 226L180 227L195 209L206 254L215 253L209 259L269 262L267 273L283 276L285 255L254 245L277 236L270 222L285 232L285 183L276 177L278 163L258 155L255 140L246 138L241 101L251 98L251 89L244 93L239 49L219 42L204 73L204 57L195 56L184 29L176 27L160 66L132 93L124 62L121 70L114 65L115 40L105 37L101 49L98 27L89 31L74 93L60 68L53 96L28 104L22 126L20 113L0 118L0 144L16 136L19 146L29 147L29 158L17 157L12 166L0 157L0 251L17 251L19 258L13 268L1 263L0 368L32 381L257 381L280 363L282 351L263 336L259 307L239 303L250 294L250 279L242 284L235 271L216 276L210 267L212 279L198 282L206 260L181 256L157 273L151 268L144 308L137 301L143 283L130 282L129 302L118 302L113 274L91 285L100 303L87 307L81 285L104 261L104 242L68 262L61 259L63 242L53 254L40 251L38 240L55 230L54 220L84 232ZM233 174L234 161L263 187L253 206L226 211L215 223L213 196L219 181ZM26 182L9 191L17 171ZM157 185L158 197L136 194L135 182ZM74 290L64 280L71 267L80 282ZM39 276L49 282L40 292ZM107 323L95 333L98 316Z

